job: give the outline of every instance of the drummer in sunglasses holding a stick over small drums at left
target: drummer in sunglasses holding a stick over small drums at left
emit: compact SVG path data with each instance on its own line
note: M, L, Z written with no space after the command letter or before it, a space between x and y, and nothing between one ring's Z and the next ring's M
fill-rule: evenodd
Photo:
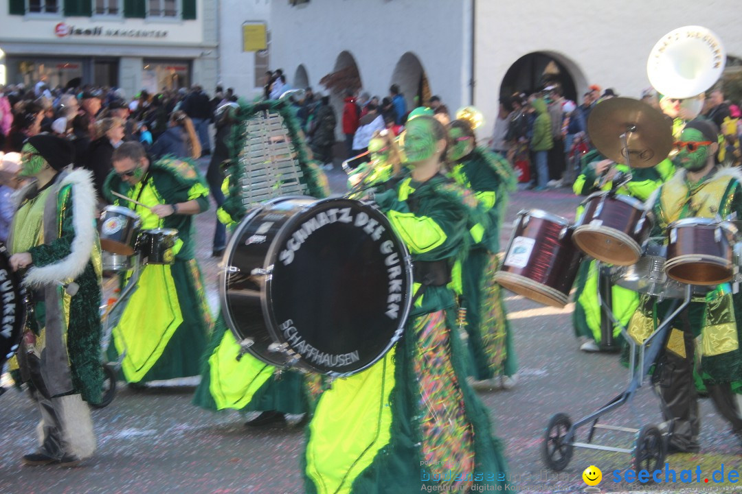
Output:
M142 230L172 228L178 240L173 264L142 268L139 286L114 327L110 357L126 350L122 371L132 384L199 375L211 314L194 258L192 220L209 209L209 188L194 164L173 158L152 162L138 142L121 144L112 161L105 198L134 210L142 218Z

